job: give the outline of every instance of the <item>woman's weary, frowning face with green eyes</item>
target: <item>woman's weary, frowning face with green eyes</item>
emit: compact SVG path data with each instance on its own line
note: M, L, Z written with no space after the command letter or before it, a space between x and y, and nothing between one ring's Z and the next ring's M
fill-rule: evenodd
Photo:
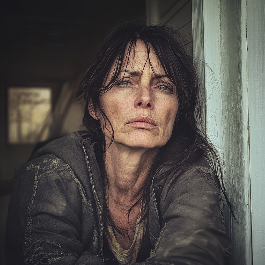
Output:
M101 95L101 106L113 126L114 142L129 147L163 146L171 136L178 110L176 86L166 77L156 54L150 50L153 70L147 56L144 42L138 40L135 56L131 53L118 82ZM107 129L106 143L111 139Z

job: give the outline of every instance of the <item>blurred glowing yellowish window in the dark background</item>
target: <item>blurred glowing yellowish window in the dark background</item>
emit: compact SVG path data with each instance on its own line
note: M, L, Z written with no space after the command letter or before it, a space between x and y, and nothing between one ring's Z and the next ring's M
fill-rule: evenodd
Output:
M8 88L8 142L36 143L49 136L51 89Z

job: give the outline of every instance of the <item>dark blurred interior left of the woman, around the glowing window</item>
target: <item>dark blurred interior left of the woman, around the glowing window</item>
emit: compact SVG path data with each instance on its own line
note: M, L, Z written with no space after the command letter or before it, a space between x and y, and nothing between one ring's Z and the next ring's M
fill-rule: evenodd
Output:
M7 89L51 87L52 106L67 82L76 88L106 34L125 21L145 23L144 0L0 1L0 264L14 169L34 144L8 144ZM60 128L55 136L60 134Z

